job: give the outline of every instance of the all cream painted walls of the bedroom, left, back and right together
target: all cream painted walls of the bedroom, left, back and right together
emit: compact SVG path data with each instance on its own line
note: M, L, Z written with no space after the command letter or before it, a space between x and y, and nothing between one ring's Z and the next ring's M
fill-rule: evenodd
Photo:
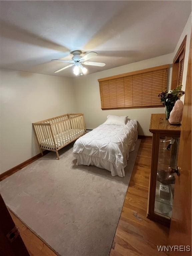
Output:
M151 135L149 132L150 116L152 113L164 113L164 108L101 110L97 79L171 64L183 38L187 35L182 79L183 90L185 90L190 34L191 15L172 54L78 78L1 70L0 173L39 153L34 142L32 122L67 112L83 112L87 129L93 129L103 123L108 114L128 115L130 119L138 120L140 135ZM168 74L169 88L171 72L172 69L170 68Z

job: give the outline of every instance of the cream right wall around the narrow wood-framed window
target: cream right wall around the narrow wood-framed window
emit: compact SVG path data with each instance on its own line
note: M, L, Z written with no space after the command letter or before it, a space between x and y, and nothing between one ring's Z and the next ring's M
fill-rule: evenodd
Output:
M186 40L186 48L185 48L185 58L184 58L184 65L183 65L183 78L182 78L182 90L185 91L185 85L186 85L186 79L187 79L187 65L188 65L188 59L189 59L189 45L190 45L190 38L191 38L191 14L189 15L189 18L187 20L187 23L183 29L183 32L179 38L179 41L177 43L177 46L175 47L175 50L173 52L173 58L175 57L184 37L187 35ZM181 97L181 100L184 100L184 96Z

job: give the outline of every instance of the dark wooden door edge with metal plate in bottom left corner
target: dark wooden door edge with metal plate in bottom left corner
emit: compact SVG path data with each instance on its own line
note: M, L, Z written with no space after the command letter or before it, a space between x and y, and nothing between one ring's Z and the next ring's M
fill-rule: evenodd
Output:
M0 256L30 256L0 195Z

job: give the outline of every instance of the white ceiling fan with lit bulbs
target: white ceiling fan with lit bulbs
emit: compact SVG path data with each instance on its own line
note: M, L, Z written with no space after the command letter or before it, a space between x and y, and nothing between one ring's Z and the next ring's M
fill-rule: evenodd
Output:
M83 74L87 73L87 69L82 64L90 65L90 66L99 66L99 67L104 67L105 66L105 63L102 63L102 62L87 61L90 58L97 56L96 52L89 52L86 55L84 55L83 57L81 56L82 51L80 51L80 50L72 51L70 53L73 54L72 60L59 60L59 61L69 62L71 64L69 64L68 66L66 66L64 68L56 70L54 73L60 72L60 71L62 71L64 69L66 69L66 68L69 68L69 67L75 65L75 67L73 69L73 73L76 76L79 75L79 73L80 73L81 76L82 76Z

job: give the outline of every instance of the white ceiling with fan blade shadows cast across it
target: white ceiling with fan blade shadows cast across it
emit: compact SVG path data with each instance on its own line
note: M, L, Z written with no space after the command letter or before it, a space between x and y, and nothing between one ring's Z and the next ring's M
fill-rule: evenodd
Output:
M0 1L1 68L74 77L51 59L98 52L88 73L174 51L191 1Z

